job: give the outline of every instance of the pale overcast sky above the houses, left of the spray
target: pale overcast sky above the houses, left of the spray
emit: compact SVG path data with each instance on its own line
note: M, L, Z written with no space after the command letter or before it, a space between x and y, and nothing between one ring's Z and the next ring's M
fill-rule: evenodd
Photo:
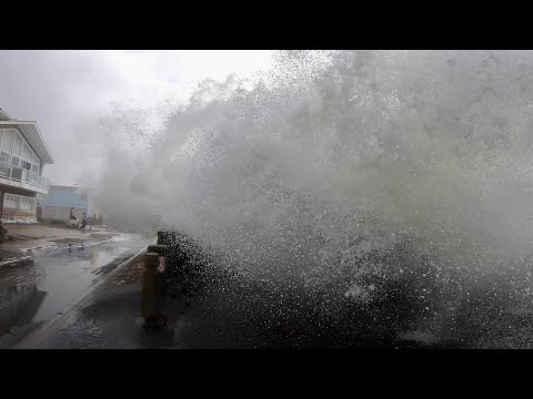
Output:
M0 108L34 120L56 160L53 183L77 183L98 166L91 122L110 102L185 100L193 85L269 68L270 51L0 51Z

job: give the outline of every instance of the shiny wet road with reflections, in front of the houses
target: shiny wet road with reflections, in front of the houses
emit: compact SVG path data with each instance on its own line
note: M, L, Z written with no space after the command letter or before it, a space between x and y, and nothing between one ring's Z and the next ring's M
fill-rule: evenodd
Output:
M151 241L121 235L115 242L38 253L33 265L0 273L0 348L64 311L92 285Z

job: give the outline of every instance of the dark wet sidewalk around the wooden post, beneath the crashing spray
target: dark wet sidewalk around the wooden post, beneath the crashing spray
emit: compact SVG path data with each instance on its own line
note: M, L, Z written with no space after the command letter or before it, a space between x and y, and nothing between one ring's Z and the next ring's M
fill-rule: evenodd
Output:
M143 327L144 320L141 315L142 268L141 252L118 266L64 314L54 317L10 347L17 349L461 347L456 341L420 342L412 337L398 336L394 314L391 314L386 304L376 304L369 310L341 296L324 308L321 296L314 291L294 288L298 285L291 282L280 284L268 279L249 278L247 274L214 265L213 267L205 265L194 275L188 273L171 276L161 308L162 314L168 316L167 326L157 331L149 330Z

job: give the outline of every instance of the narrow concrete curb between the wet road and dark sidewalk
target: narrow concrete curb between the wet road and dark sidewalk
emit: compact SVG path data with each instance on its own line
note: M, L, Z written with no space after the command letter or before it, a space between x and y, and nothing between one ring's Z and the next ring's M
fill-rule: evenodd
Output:
M119 266L117 266L110 274L108 274L102 280L98 282L93 286L91 286L78 300L77 303L72 304L63 314L59 314L48 320L44 325L37 328L28 336L22 338L18 344L16 344L12 349L38 349L39 345L41 345L44 339L47 339L51 334L58 331L61 327L63 327L73 316L74 314L82 308L86 304L89 303L91 299L91 294L93 294L97 289L101 286L110 282L112 278L117 276L117 274L130 265L131 263L138 260L139 258L144 255L147 248L141 249L135 255L130 257L129 259L122 262Z

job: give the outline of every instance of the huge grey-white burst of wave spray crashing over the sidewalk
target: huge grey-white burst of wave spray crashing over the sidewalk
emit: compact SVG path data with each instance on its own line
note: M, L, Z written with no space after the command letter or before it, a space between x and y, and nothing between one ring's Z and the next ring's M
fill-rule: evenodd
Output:
M405 330L483 329L533 311L532 89L529 51L280 52L160 125L103 121L98 201L257 278L363 307L401 288Z

